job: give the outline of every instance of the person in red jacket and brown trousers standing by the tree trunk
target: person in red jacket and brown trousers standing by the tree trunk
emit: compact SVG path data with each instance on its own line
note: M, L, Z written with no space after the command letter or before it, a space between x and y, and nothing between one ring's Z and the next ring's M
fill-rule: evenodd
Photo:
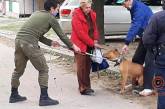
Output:
M90 0L80 0L80 8L73 12L71 41L80 48L81 53L75 53L77 63L77 77L79 91L82 95L93 95L94 90L90 84L91 59L85 52L92 52L94 47L101 48L98 44L98 30L96 13L91 9Z

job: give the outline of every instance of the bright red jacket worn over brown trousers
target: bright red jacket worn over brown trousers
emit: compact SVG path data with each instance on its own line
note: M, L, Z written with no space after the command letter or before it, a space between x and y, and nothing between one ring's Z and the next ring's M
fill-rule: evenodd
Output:
M71 41L80 48L81 52L86 52L87 46L93 47L94 40L98 40L99 38L96 25L96 13L91 11L90 15L94 26L94 39L88 35L89 26L82 10L80 8L75 9L72 16Z

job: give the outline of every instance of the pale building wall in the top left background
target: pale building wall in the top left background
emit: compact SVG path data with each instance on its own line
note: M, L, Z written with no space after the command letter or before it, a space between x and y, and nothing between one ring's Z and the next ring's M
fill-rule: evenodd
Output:
M0 0L0 11L13 17L31 15L36 10L44 9L44 0L4 0L5 9L2 9L1 1L3 0Z

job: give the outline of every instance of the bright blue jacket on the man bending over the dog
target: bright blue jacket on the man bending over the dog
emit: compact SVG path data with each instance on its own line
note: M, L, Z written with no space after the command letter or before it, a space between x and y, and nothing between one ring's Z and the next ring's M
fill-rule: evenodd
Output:
M125 44L129 45L130 42L138 35L143 36L143 32L148 25L150 17L153 15L152 10L144 3L133 0L130 10L131 14L131 27L125 39Z

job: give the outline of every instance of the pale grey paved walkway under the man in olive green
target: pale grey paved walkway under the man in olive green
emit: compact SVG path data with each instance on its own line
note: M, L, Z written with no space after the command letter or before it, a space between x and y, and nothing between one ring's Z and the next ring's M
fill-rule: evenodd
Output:
M28 63L25 74L21 78L19 88L21 95L27 96L28 100L15 104L8 103L10 78L14 68L14 50L0 44L0 51L0 109L40 109L41 107L38 106L40 92L37 82L38 72L30 63ZM111 94L96 84L93 84L96 96L81 96L77 90L75 75L65 71L63 66L48 65L50 67L49 94L51 97L58 99L60 104L58 106L42 107L41 109L146 109L139 104L132 103L130 100Z

